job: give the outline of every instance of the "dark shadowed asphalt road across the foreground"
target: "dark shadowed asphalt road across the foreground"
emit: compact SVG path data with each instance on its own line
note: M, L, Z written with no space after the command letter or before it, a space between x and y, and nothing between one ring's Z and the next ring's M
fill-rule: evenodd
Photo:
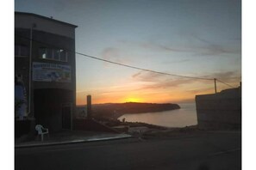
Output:
M16 169L241 169L240 131L16 149Z

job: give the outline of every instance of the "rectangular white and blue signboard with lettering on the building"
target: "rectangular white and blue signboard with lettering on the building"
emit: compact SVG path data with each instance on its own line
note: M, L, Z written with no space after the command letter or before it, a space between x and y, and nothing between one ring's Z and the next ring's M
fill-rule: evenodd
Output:
M63 64L33 63L35 82L71 82L71 67Z

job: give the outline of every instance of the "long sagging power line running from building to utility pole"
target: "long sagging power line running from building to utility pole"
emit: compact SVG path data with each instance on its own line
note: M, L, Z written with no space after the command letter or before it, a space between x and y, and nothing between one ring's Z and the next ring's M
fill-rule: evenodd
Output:
M19 35L16 35L16 36L19 36ZM45 43L45 42L41 42L41 41L38 41L38 40L34 40L34 39L29 39L29 38L26 38L26 37L23 37L23 36L19 36L19 37L21 37L22 39L32 40L34 42L41 43L41 44L44 44L44 45L47 45L47 46L53 46L51 44L48 44L48 43ZM53 46L53 47L61 48L59 46ZM68 49L67 51L74 52L74 51L72 51L70 49ZM200 80L214 80L213 78L203 78L203 77L197 77L197 76L182 76L182 75L176 75L176 74L171 74L171 73L160 72L160 71L156 71L156 70L148 70L148 69L136 67L136 66L133 66L133 65L121 64L121 63L113 62L113 61L106 60L106 59L103 59L103 58L97 58L97 57L90 56L90 55L87 55L87 54L84 54L84 53L81 53L81 52L74 52L74 53L76 53L78 55L82 55L82 56L87 57L87 58L93 58L93 59L97 59L97 60L100 60L100 61L103 61L103 62L107 62L107 63L110 63L110 64L117 64L117 65L121 65L121 66L128 67L128 68L131 68L131 69L135 69L135 70L143 70L143 71L153 72L153 73L157 73L157 74L161 74L161 75L166 75L166 76L178 76L178 77L193 78L193 79L200 79Z

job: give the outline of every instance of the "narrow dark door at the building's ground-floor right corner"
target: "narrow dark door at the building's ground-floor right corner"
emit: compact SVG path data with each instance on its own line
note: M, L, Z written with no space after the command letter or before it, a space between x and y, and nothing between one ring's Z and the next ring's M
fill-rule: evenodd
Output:
M72 105L64 104L62 105L62 128L63 129L71 129L71 112L72 112Z

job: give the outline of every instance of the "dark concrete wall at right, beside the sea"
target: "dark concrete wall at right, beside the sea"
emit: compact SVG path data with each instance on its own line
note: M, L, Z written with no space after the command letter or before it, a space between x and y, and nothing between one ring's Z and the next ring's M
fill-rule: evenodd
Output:
M241 90L196 96L197 122L201 129L240 129Z

